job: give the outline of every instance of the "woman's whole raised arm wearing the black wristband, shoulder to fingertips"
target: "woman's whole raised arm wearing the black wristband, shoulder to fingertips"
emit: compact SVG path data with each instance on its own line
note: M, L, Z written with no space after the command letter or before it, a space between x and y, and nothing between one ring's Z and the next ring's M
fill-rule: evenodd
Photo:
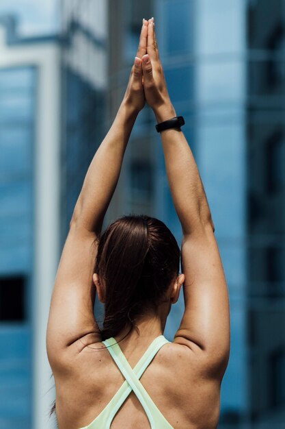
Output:
M151 21L143 57L146 101L157 122L176 116L167 93ZM145 62L150 58L150 62ZM182 226L185 313L176 343L202 351L209 371L223 376L230 353L230 307L215 228L197 164L182 130L161 132L170 191Z

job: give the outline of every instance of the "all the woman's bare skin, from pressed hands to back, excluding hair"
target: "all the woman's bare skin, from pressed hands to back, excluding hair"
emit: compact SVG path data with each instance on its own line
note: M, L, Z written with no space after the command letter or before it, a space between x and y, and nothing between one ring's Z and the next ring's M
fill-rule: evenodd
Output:
M46 348L55 378L59 429L90 424L124 382L101 343L93 314L96 291L104 303L105 289L93 272L97 248L92 243L115 191L137 114L148 103L157 122L176 116L153 19L144 21L137 58L116 118L87 171L55 278ZM183 284L185 313L174 342L161 347L141 383L174 428L212 429L217 428L221 381L230 354L228 288L213 219L189 144L176 129L161 132L161 143L183 232L183 273L169 284L168 301L157 314L148 313L137 320L139 334L133 330L124 338L126 327L116 340L122 339L122 352L134 367L153 339L163 334ZM118 411L111 428L150 428L134 393Z

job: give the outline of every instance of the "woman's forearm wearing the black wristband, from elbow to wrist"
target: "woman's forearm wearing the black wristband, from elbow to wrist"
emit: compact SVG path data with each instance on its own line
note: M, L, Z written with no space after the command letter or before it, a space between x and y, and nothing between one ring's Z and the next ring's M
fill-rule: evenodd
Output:
M157 123L176 117L171 103L154 111ZM165 167L172 199L183 234L191 234L202 223L215 230L204 186L192 151L183 132L169 129L161 132Z

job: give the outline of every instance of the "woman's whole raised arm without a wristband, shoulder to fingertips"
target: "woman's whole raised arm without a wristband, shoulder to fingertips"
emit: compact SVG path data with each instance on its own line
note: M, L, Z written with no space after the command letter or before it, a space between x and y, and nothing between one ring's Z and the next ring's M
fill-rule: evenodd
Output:
M94 318L96 290L93 282L96 237L115 191L124 151L139 111L144 107L141 57L146 53L148 21L141 29L137 59L124 99L107 136L90 164L70 230L59 261L46 332L46 347L53 371L66 367L70 352L100 341ZM66 354L68 352L68 355Z

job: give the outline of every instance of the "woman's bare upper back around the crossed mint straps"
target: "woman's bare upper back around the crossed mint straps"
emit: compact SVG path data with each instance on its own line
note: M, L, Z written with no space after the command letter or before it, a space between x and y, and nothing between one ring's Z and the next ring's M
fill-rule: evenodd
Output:
M148 345L146 341L122 341L120 348L133 368ZM66 356L66 363L62 374L55 376L57 421L59 429L79 429L99 415L125 379L103 343L85 347L76 357ZM140 381L175 429L217 428L221 383L208 376L202 350L194 352L187 346L167 343ZM150 428L133 392L111 424L111 429L122 428Z

